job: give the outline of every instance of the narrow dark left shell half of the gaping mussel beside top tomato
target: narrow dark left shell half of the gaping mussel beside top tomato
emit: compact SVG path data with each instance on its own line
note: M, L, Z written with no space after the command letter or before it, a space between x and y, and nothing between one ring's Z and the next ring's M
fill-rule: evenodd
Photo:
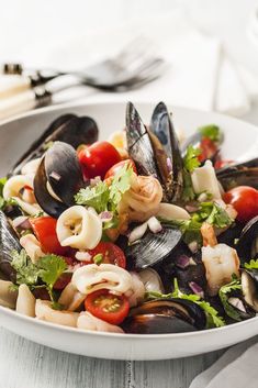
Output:
M58 219L58 217L67 209L67 206L53 196L51 196L47 190L47 176L45 170L45 158L42 158L42 162L37 168L36 175L33 181L34 195L37 200L37 203L41 208L49 215Z

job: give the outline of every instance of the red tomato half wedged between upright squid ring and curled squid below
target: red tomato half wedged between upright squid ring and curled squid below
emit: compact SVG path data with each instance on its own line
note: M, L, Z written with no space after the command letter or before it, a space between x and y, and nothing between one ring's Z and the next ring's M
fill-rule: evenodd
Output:
M93 258L98 254L103 255L101 264L114 264L121 268L125 268L126 258L123 251L113 243L99 243L93 250L88 251Z

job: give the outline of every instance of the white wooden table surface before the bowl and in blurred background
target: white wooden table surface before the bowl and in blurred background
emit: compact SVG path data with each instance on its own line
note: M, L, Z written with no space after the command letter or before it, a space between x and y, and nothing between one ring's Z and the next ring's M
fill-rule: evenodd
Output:
M87 26L105 26L117 19L154 14L180 4L204 31L222 37L232 55L245 57L250 64L250 51L245 52L242 36L247 15L256 3L255 0L55 0L40 4L34 0L0 0L1 60L26 60L24 42L33 40L38 42L38 52L31 53L31 58L40 58L58 29L65 40L85 32ZM247 119L258 124L258 109ZM187 388L221 354L161 362L102 361L54 351L0 329L0 388Z

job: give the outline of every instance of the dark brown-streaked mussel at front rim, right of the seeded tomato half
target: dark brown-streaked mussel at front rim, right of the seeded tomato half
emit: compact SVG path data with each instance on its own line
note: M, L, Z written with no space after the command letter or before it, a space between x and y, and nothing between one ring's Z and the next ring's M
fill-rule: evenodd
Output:
M189 300L157 299L131 310L123 322L127 333L165 334L203 330L206 317L203 310Z

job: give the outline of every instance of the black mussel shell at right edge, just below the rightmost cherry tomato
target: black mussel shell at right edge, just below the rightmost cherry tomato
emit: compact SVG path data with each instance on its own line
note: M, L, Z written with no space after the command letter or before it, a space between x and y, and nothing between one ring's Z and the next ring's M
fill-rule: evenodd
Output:
M236 243L236 251L242 263L249 262L258 254L258 215L251 219L243 229L242 234ZM255 250L254 250L255 247ZM254 252L255 251L255 252Z

